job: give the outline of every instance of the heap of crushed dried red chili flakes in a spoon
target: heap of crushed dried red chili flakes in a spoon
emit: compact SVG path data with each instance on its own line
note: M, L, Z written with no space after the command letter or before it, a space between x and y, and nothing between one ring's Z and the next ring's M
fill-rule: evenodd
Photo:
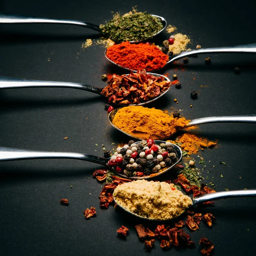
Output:
M171 82L163 76L153 76L145 70L138 70L137 73L131 71L129 75L113 74L101 94L108 98L108 103L140 104L159 96L170 85Z

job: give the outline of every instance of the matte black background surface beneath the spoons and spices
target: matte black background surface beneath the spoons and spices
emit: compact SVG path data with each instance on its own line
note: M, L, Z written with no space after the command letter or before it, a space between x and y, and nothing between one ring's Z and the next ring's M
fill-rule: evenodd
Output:
M125 13L136 5L139 11L165 17L168 24L177 27L177 32L189 35L191 48L197 44L207 48L256 42L254 1L4 0L0 9L6 13L100 24L111 19L112 11ZM102 46L93 44L81 49L87 38L98 37L99 33L77 26L2 24L0 75L104 87L102 74L127 71L109 64ZM168 37L163 32L155 41ZM207 56L212 58L211 65L204 63ZM180 109L189 119L255 113L255 54L207 56L189 58L185 71L175 64L160 70L161 74L169 73L170 78L176 73L182 88L172 87L149 107ZM236 66L241 68L239 75L233 71ZM192 90L199 92L198 99L190 98ZM174 103L175 98L179 104ZM100 145L111 150L130 140L108 123L105 103L96 94L74 89L2 89L0 145L103 156ZM200 134L218 140L217 148L201 152L206 160L202 175L209 177L205 183L214 182L217 191L256 188L254 124L202 125ZM68 139L64 140L66 136ZM220 165L220 161L226 165ZM113 206L100 209L98 196L102 184L92 177L93 171L100 167L79 160L1 162L0 254L201 255L198 245L201 236L215 244L213 255L255 253L255 198L221 200L214 207L202 210L212 212L217 221L212 228L201 223L196 232L185 228L196 243L195 249L173 248L164 252L156 241L151 253L146 253L134 229L134 224L141 222L139 219L115 211ZM59 204L61 198L68 198L69 206ZM96 207L97 216L85 220L83 211L88 207ZM153 230L157 225L145 224ZM130 229L125 240L116 236L121 225Z

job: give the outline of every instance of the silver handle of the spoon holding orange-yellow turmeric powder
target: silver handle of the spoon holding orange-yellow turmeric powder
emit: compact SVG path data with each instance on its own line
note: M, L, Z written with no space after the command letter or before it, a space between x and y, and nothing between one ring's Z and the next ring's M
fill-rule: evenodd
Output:
M193 125L208 124L213 122L246 122L254 123L256 122L256 114L243 115L243 116L209 116L197 119L192 119L186 127Z

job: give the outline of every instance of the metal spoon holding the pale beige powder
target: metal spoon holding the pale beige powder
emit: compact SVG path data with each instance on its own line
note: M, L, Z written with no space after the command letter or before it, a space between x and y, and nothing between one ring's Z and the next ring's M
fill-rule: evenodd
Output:
M197 197L197 198L193 198L192 199L192 205L190 207L193 207L197 204L201 204L201 203L204 203L204 202L207 202L207 201L212 201L212 200L215 200L215 199L230 198L230 197L255 197L255 196L256 196L256 189L216 192L216 193L211 193L211 194L207 194L207 195L202 195L202 196ZM138 215L137 213L131 212L128 209L126 209L125 207L122 207L122 205L120 205L116 202L115 198L114 198L114 201L120 208L124 209L126 212L131 213L134 216L137 216L137 217L143 218L143 219L147 219L147 220L151 220L151 221L163 221L162 219L146 218L146 217L143 217L141 215ZM189 208L187 208L187 209L189 209ZM186 209L184 210L184 212L185 211L186 211ZM181 212L180 215L181 214L183 214L183 212ZM168 220L171 220L171 219L173 219L173 218L169 218ZM168 220L165 220L165 221L168 221Z

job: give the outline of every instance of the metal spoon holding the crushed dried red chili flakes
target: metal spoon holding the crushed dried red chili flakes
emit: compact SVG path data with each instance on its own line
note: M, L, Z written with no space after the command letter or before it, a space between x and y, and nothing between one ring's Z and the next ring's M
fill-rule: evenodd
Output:
M170 81L170 79L166 76L155 74L155 73L148 73L153 76L162 76L166 81ZM129 74L126 74L128 76ZM70 82L58 82L58 81L41 81L41 80L29 80L29 79L20 79L20 78L13 78L13 77L7 77L7 76L0 76L0 89L12 89L12 88L35 88L35 87L61 87L61 88L73 88L73 89L80 89L80 90L86 90L91 93L96 93L99 95L102 95L101 92L103 88L100 87L94 87L87 84L79 84L79 83L70 83ZM165 93L169 91L171 87L169 87L167 90L162 92L157 97L148 100L146 102L142 102L139 104L130 104L130 106L138 106L138 105L145 105L148 103L151 103L155 101L156 99L162 97ZM123 104L118 104L119 106L128 106Z

